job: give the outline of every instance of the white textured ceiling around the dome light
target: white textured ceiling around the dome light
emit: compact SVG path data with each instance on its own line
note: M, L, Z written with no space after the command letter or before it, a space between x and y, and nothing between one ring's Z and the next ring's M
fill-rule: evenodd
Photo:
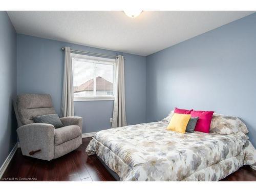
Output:
M254 11L8 11L17 33L150 55Z

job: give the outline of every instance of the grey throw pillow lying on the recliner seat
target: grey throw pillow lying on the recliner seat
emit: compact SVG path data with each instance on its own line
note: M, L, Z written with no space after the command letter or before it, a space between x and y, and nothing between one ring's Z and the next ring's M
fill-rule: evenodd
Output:
M59 119L58 114L50 114L50 115L41 115L38 117L33 117L35 123L48 123L52 124L55 129L64 126Z

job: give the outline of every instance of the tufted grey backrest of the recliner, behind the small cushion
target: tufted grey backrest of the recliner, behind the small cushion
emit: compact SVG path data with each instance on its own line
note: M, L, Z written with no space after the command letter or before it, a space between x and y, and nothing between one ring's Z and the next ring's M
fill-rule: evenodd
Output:
M17 109L23 125L34 123L33 117L56 113L49 94L20 94Z

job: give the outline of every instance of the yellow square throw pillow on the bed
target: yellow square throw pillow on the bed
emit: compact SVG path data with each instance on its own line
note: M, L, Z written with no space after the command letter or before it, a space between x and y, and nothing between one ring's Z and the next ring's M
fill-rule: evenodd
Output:
M190 114L178 114L174 113L172 119L170 119L170 123L167 126L167 130L175 131L179 133L185 133L187 123L190 119Z

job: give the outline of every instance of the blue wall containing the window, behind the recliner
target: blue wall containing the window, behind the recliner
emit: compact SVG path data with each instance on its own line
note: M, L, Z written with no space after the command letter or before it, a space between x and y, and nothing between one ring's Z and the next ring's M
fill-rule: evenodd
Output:
M128 124L146 121L145 57L110 50L70 44L68 42L17 35L17 93L49 93L56 112L60 112L63 58L61 47L94 53L125 56L125 102ZM75 115L83 117L83 133L111 126L113 101L76 101Z

